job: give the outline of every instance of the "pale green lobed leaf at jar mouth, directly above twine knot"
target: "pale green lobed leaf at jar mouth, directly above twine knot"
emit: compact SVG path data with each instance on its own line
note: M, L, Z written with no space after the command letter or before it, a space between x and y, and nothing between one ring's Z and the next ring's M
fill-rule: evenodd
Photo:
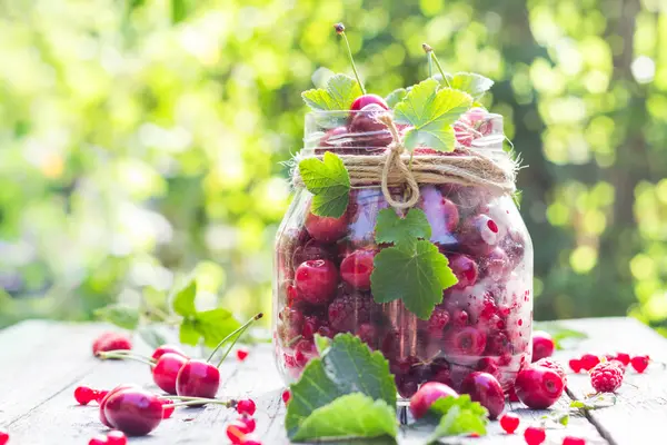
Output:
M436 79L424 80L395 107L396 122L414 127L406 131L404 138L409 150L417 146L454 150L451 125L470 108L472 98L467 92L451 88L438 89L438 86Z

